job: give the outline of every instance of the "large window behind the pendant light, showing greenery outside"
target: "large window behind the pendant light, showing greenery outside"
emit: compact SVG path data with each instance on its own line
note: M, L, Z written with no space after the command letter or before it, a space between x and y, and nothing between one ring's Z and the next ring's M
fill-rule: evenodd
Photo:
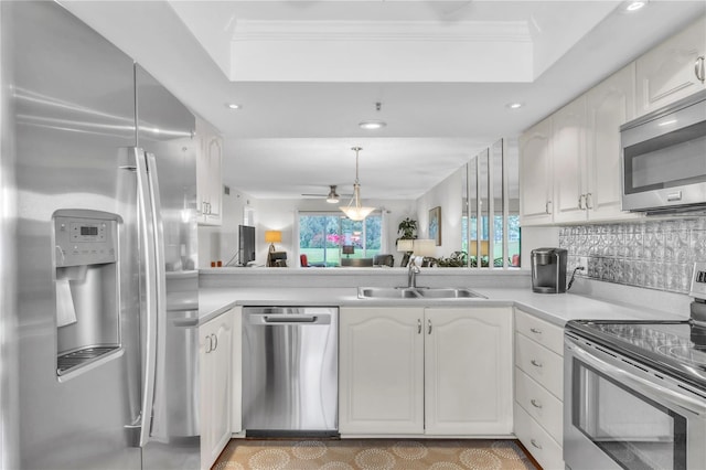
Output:
M372 258L381 253L383 223L379 213L351 221L340 212L299 213L299 253L313 266L340 266L341 257ZM343 246L353 254L343 255Z

